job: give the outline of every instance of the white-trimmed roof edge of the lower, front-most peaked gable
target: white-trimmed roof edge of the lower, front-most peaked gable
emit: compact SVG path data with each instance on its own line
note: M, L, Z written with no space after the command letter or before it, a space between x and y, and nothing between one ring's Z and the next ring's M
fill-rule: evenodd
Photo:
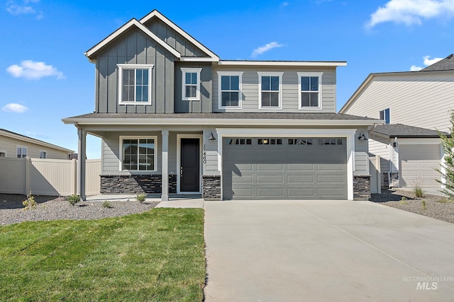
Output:
M180 54L179 52L177 52L177 50L175 50L173 47L171 47L170 45L168 45L166 42L162 41L160 39L160 37L157 37L157 35L155 35L154 33L151 32L151 30L149 30L148 28L145 27L145 25L143 25L142 23L140 23L139 21L137 21L137 19L133 18L131 19L130 21L128 21L128 23L126 23L125 25L121 26L121 28L118 28L118 30L115 30L114 33L111 33L109 36L107 36L104 40L102 40L101 42L99 42L98 44L94 45L94 47L90 48L89 50L87 50L87 52L85 52L85 56L87 56L90 60L90 62L96 62L96 59L94 59L94 55L99 52L99 50L101 50L102 48L104 48L106 45L108 45L111 41L115 40L116 37L118 37L119 35L121 35L122 33L126 32L126 30L132 28L133 26L135 26L136 28L138 28L138 30L142 31L146 36L150 37L150 39L154 40L155 42L157 42L157 44L161 45L162 47L164 47L165 50L167 50L168 52L170 52L171 54L173 54L175 57L177 58L181 58L182 57L182 54Z

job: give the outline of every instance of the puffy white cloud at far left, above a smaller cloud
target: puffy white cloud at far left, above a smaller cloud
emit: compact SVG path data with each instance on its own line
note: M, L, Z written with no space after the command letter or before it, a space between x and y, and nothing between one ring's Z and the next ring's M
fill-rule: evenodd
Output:
M21 65L11 65L6 71L15 78L26 78L31 80L38 80L45 76L55 76L57 79L65 79L61 71L58 71L52 65L46 65L44 62L35 62L32 60L25 60Z

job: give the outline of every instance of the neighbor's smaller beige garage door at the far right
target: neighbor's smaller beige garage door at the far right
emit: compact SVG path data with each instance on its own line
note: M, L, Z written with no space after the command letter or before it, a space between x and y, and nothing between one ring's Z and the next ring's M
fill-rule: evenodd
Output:
M440 145L399 145L400 187L440 187Z

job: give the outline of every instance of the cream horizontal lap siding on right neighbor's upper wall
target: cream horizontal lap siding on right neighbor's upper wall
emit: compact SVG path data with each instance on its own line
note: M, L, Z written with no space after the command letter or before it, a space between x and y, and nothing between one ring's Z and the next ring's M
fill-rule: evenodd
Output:
M379 118L389 108L392 124L448 131L453 95L452 73L375 76L345 113Z

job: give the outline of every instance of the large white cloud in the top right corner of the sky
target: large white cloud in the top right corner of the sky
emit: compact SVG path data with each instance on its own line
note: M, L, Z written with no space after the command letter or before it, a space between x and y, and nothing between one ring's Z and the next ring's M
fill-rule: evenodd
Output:
M370 15L366 26L372 28L384 22L421 24L421 18L440 16L454 16L454 0L390 0Z

